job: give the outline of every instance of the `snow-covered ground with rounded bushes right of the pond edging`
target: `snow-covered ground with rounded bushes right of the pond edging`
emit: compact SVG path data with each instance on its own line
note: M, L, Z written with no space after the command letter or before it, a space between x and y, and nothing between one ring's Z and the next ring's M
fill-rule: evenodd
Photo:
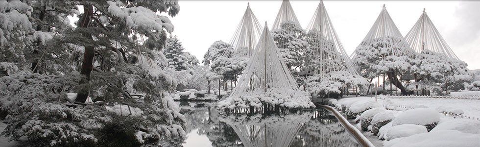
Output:
M357 110L360 106L365 109L375 107L389 109L384 112L376 112L379 115L391 113L394 116L390 123L383 124L384 127L381 127L378 135L371 132L373 123L368 127L368 131L362 132L377 147L480 147L480 120L477 120L480 118L480 100L379 96L376 102L375 97L356 97L340 98L336 102L330 100L330 103L336 104L337 109L346 108L343 110L346 114L352 113L348 111L349 109L360 111ZM458 116L454 118L452 115L442 114L442 111L470 118ZM372 111L365 112L372 113ZM360 115L362 114L360 113L357 117ZM357 121L357 123L354 120L350 121L361 130L361 123L358 122L361 121ZM403 123L396 124L398 122ZM437 124L430 131L429 125L432 123ZM426 129L424 130L424 128ZM430 132L427 132L427 129ZM378 138L385 139L385 141ZM448 142L445 141L446 138L455 138L457 141Z

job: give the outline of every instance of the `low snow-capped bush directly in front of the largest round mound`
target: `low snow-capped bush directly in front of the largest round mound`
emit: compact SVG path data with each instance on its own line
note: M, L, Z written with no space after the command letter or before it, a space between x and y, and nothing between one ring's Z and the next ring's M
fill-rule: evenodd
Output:
M392 140L400 137L408 137L415 134L427 133L427 128L418 124L401 124L395 125L388 129L386 140Z

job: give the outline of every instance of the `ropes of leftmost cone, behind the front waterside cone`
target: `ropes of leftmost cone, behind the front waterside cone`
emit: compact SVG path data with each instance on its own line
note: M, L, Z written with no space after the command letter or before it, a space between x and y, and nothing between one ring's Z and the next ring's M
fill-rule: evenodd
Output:
M230 45L233 46L234 51L246 49L248 55L251 56L254 53L253 50L261 32L262 26L253 14L252 9L250 9L250 5L248 5L240 20L240 24L237 26L237 30L235 30L232 39L230 39ZM232 54L226 54L225 56L231 57Z

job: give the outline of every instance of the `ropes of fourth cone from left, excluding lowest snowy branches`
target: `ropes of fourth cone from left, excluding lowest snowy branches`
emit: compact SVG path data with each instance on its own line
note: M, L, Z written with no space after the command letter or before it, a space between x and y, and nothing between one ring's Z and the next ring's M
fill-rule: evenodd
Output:
M321 73L346 71L357 74L336 34L323 1L318 4L306 31L308 32L309 48L311 48L309 50L312 51L308 52L307 55L313 55L312 60L322 63L320 65L313 63L310 66L320 66L319 71Z

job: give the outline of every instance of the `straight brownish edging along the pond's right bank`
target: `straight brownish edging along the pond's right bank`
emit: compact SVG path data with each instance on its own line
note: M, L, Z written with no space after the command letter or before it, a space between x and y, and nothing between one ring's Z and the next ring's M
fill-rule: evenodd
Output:
M326 105L318 105L319 107L325 108L330 112L333 112L335 114L336 119L338 119L342 125L350 132L350 134L353 135L357 139L357 141L360 143L362 147L375 147L370 140L368 140L363 134L358 130L355 126L353 126L351 123L348 122L345 117L343 117L340 112L336 111L334 107L332 106L326 106Z

